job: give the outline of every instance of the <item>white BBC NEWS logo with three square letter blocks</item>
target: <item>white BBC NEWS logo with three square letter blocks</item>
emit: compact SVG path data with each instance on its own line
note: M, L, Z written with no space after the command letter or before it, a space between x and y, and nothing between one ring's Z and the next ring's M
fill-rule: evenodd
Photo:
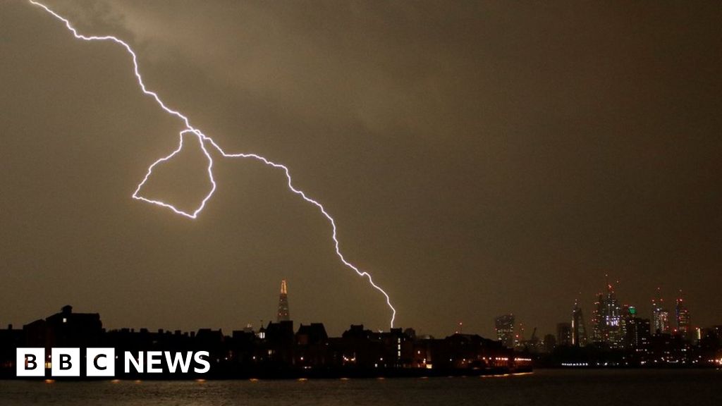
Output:
M45 348L18 348L15 359L17 376L45 376L47 368ZM170 353L170 351L140 351L134 356L130 351L123 353L124 373L206 373L210 371L208 351L193 353ZM52 348L50 360L51 376L80 376L82 363L85 376L116 376L115 348L87 348L85 359L80 348ZM146 361L146 362L144 362ZM164 370L163 363L167 369ZM193 368L191 368L193 366Z

